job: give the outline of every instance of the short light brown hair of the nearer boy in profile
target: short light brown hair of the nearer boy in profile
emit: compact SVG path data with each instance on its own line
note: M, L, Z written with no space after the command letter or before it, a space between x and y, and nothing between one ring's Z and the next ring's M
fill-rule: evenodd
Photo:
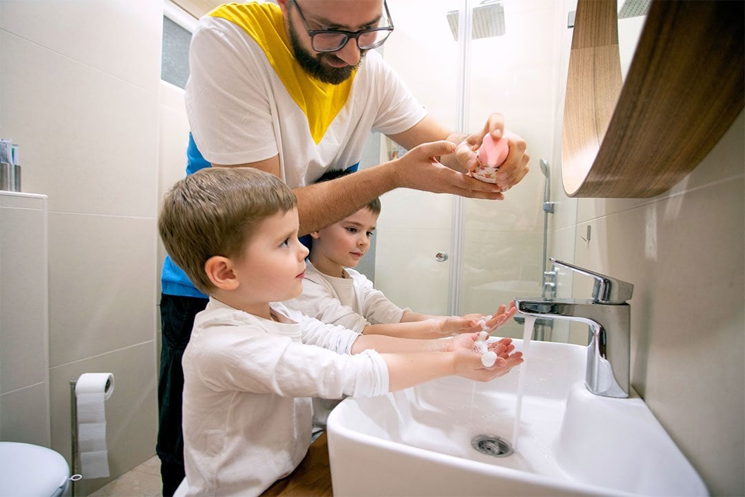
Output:
M295 206L293 191L272 174L256 168L204 168L168 191L158 230L174 262L209 294L215 286L204 270L207 259L240 259L261 221Z

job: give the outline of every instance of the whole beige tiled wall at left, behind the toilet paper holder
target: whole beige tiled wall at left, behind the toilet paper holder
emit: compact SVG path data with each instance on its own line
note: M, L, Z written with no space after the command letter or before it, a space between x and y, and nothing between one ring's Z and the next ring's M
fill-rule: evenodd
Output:
M154 453L162 3L4 0L0 135L48 195L51 447L69 460L69 382L110 371L112 477ZM23 353L19 350L19 353Z

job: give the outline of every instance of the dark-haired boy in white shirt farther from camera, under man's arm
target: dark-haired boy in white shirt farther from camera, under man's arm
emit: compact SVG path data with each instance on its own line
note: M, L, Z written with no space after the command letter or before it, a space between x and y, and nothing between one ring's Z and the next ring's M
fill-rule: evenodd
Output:
M335 180L347 171L327 171L317 183ZM352 269L370 249L370 238L381 212L380 199L329 227L311 232L311 248L302 294L285 302L289 308L324 323L344 326L365 335L402 338L441 338L458 333L490 332L516 313L513 303L500 306L492 316L466 314L432 316L399 308L367 276ZM481 320L484 320L482 326Z

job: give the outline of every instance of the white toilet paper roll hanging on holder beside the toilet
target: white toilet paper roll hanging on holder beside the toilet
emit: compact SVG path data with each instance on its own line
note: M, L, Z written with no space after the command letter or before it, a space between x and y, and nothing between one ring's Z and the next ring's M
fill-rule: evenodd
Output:
M75 383L77 453L83 478L109 476L104 402L114 391L111 373L83 373Z

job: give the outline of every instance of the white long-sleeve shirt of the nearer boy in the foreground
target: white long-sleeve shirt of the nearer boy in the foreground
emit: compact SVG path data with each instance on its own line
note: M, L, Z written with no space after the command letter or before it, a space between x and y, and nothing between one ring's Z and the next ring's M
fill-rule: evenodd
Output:
M189 495L259 495L292 472L311 442L311 399L377 396L388 370L358 334L272 304L264 320L215 299L183 355Z

